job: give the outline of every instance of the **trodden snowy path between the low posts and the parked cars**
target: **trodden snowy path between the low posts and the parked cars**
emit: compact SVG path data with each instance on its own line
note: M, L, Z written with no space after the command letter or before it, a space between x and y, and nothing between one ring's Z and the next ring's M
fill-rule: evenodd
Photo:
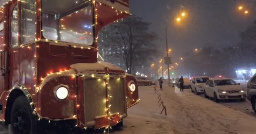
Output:
M174 134L256 134L256 117L188 90L180 92L177 88L164 85L163 91L158 91L165 102Z

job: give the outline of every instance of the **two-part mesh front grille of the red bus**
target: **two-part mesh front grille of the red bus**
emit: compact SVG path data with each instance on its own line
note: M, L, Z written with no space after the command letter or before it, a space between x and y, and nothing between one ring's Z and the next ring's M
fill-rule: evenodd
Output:
M123 115L126 113L124 84L123 78L110 77L107 91L105 79L84 78L85 123L87 126L93 126L97 117L107 116L107 108L111 114Z

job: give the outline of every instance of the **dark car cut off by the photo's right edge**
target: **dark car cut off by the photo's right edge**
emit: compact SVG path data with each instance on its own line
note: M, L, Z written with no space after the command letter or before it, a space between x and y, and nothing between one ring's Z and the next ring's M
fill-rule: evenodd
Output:
M256 113L256 74L247 83L247 99Z

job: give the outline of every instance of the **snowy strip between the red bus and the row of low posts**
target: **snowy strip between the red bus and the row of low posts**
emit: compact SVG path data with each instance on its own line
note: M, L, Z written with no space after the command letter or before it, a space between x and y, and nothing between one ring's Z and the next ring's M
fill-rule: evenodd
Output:
M141 101L128 109L123 130L113 134L175 134L168 116L159 114L162 107L157 97L153 86L139 87Z

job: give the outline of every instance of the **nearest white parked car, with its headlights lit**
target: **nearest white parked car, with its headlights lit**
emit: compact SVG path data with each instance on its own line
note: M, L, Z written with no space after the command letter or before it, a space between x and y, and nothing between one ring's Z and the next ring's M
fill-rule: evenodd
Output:
M232 79L216 78L208 80L204 86L205 98L212 97L214 101L226 99L241 99L245 101L246 90Z

